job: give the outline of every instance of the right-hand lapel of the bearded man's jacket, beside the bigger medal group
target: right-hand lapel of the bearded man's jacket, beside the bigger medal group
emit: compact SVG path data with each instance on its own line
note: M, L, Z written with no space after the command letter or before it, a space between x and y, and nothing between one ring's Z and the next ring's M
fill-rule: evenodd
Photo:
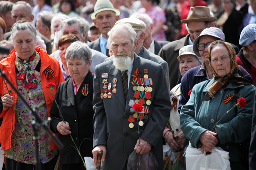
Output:
M131 70L131 75L134 74L134 70L135 68L138 68L139 70L139 73L138 73L138 78L141 78L143 77L144 75L144 70L142 70L142 63L141 63L141 60L139 58L139 56L137 54L134 53L134 61L133 61L133 67L132 67L132 70ZM128 112L128 110L130 109L130 106L129 106L129 102L130 100L134 100L134 90L132 89L133 88L133 84L131 84L132 82L132 76L130 78L130 82L129 82L129 88L128 88L128 95L127 95L127 100L126 100L126 105L125 105L125 114Z

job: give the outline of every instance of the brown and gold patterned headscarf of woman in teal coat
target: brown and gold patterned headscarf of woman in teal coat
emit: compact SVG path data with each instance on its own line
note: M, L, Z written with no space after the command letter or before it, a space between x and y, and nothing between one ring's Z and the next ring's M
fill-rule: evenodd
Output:
M214 78L216 78L216 80L212 83L212 85L208 89L208 93L206 93L206 95L204 96L204 100L210 100L210 98L212 98L219 91L219 89L221 89L222 86L225 85L227 82L231 82L239 85L251 84L249 80L247 80L246 78L243 78L242 71L237 65L236 52L235 52L235 49L232 47L232 45L221 40L214 41L211 45L216 44L218 42L224 44L228 50L228 54L230 57L230 72L224 77L219 76L211 65L211 55L208 50L209 65L210 65L211 71L213 72L213 76Z

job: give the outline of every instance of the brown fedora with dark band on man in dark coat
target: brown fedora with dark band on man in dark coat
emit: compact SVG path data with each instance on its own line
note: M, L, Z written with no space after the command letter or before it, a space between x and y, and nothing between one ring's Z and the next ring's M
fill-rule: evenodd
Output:
M189 23L189 22L201 22L201 21L216 21L216 17L211 17L210 8L209 7L190 7L190 11L188 13L186 20L180 20L182 23Z

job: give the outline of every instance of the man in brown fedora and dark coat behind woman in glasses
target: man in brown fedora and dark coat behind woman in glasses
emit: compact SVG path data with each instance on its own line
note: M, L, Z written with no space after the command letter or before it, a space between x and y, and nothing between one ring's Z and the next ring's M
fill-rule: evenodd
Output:
M164 45L159 51L158 55L162 57L169 65L171 89L176 84L179 84L181 79L179 71L180 63L177 60L180 48L183 48L186 45L193 45L194 39L198 37L205 28L215 27L214 21L216 20L216 17L211 17L210 9L208 7L190 7L187 20L181 20L181 22L187 24L189 34L180 40L176 40ZM180 77L178 75L180 75Z

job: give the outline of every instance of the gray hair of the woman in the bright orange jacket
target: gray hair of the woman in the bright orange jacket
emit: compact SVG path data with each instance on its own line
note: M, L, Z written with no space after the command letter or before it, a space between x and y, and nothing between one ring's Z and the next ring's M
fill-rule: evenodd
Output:
M29 30L34 35L35 41L37 40L36 36L41 37L41 34L38 32L38 30L35 29L35 26L30 22L24 22L24 21L18 21L13 25L10 32L10 41L14 43L14 37L16 36L18 31L25 31Z

